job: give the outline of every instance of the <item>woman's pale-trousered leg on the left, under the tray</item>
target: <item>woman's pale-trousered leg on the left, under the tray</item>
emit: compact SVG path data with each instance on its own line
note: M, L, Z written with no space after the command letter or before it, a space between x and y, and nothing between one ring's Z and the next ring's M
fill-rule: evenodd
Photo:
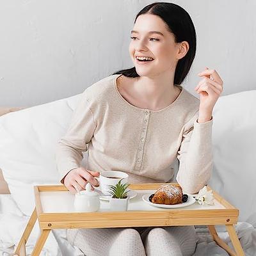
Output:
M134 228L68 229L67 239L86 256L145 256L138 231Z

